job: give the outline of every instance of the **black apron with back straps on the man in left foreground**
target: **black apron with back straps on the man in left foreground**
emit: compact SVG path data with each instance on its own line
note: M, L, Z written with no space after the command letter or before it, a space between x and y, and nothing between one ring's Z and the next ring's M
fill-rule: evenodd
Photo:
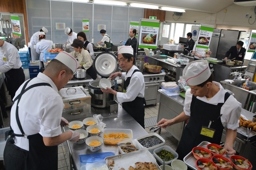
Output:
M32 79L30 79L32 80ZM18 104L20 102L20 99L22 95L28 91L31 88L34 88L36 86L50 86L48 83L38 83L38 84L33 84L26 88L28 82L24 84L21 93L14 99L14 102L17 101L17 106L16 106L16 121L18 124L18 127L20 129L21 134L15 134L12 130L12 127L10 127L10 131L7 132L8 135L10 135L10 138L8 139L8 143L14 145L14 136L16 137L23 137L24 136L24 131L21 127L20 124L20 119L18 115ZM51 87L51 86L50 86ZM26 89L25 89L26 88ZM39 133L34 134L34 135L29 135L28 137L29 140L29 154L28 158L26 160L26 168L28 170L57 170L58 169L58 146L52 146L52 147L47 147L44 145L43 137ZM17 147L16 145L14 147ZM21 149L23 150L23 149Z

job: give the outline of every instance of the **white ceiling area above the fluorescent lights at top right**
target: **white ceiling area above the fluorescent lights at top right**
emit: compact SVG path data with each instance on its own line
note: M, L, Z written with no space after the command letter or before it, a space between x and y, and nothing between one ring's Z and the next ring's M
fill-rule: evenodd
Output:
M156 4L183 8L190 11L217 13L234 3L234 0L119 0L124 2Z

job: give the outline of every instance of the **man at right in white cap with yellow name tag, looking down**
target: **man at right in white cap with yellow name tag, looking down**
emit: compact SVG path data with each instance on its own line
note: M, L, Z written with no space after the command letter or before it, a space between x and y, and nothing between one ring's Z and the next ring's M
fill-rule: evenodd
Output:
M183 160L202 141L220 144L224 127L224 149L227 154L235 154L233 144L242 105L226 92L220 83L212 81L207 61L197 60L189 63L183 70L183 77L191 88L186 91L184 111L173 119L162 119L157 123L166 128L190 119L176 150L179 159Z

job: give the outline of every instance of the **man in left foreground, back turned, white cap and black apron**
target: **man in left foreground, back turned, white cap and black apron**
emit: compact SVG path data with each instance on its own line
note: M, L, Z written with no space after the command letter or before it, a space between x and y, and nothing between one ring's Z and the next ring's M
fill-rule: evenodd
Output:
M68 121L62 117L64 104L58 94L78 65L69 53L60 52L43 73L20 86L11 109L13 131L4 149L6 170L57 170L58 145L79 139L78 132L62 133Z

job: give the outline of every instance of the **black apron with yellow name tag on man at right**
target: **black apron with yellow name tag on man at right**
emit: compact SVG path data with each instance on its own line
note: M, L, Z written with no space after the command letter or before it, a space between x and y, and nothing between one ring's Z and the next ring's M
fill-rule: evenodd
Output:
M224 103L229 96L230 94L226 92ZM224 129L220 120L220 109L224 103L218 103L218 105L208 104L198 100L194 95L192 96L190 120L184 128L176 150L179 155L178 159L183 160L183 158L202 141L220 144L222 131ZM200 134L202 126L208 127L210 121L214 121L210 126L210 128L215 129L213 138Z

